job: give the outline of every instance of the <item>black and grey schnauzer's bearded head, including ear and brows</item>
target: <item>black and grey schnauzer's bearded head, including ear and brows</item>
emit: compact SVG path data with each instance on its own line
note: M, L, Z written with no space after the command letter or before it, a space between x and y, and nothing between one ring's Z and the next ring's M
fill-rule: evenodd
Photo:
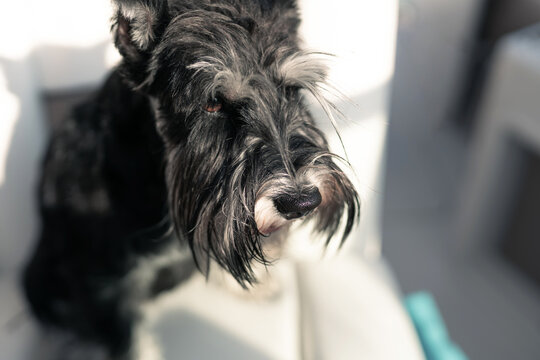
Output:
M241 284L268 235L300 219L328 240L343 223L344 239L359 210L304 105L325 67L298 48L294 6L271 3L124 0L113 26L155 110L175 229Z

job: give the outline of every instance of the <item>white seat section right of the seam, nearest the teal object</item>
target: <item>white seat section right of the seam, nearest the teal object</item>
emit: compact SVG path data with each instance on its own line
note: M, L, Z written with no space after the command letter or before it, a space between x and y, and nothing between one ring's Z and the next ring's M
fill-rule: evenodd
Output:
M305 359L424 359L380 265L352 256L300 264Z

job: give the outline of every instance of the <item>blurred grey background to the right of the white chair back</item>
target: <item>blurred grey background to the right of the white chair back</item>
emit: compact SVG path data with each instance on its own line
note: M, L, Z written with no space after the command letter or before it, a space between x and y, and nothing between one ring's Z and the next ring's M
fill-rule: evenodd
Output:
M383 254L471 359L540 358L540 1L402 0Z

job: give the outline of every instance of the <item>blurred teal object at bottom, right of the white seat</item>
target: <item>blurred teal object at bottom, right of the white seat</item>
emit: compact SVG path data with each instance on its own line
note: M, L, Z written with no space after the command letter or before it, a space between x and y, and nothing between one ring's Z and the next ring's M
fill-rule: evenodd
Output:
M413 321L426 360L468 360L448 335L433 296L425 291L405 297L405 308Z

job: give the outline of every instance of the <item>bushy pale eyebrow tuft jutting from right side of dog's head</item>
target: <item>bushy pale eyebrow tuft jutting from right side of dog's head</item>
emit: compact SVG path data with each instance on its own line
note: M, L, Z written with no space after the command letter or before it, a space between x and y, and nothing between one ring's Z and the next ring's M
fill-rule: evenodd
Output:
M277 78L285 86L313 87L324 83L328 67L319 53L299 53L277 63Z

